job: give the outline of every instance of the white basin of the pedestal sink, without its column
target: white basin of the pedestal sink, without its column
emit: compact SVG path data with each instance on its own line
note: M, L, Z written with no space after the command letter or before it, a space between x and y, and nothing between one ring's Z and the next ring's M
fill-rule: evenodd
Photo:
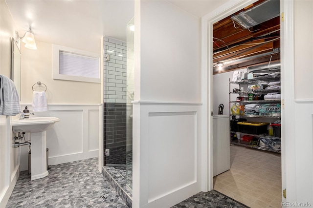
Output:
M42 132L51 128L54 123L60 121L56 117L30 117L29 119L12 120L14 133L17 132Z

